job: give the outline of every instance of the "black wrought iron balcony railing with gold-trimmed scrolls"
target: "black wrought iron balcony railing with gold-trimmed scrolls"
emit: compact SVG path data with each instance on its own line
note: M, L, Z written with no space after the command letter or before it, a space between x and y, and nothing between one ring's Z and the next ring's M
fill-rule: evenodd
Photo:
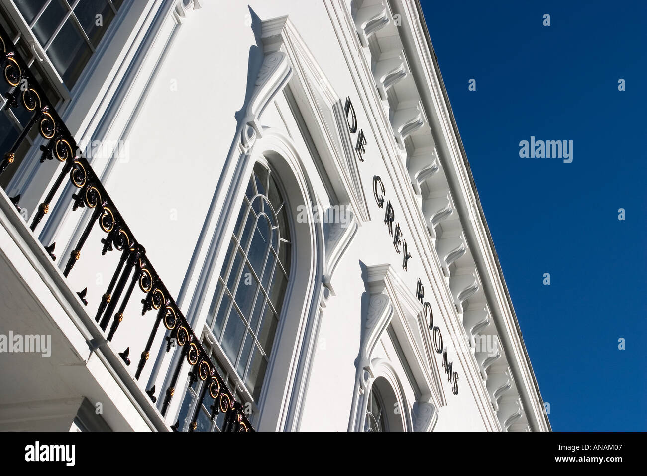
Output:
M3 71L5 81L10 86L9 91L6 93L7 100L0 107L0 111L3 108L23 107L31 114L31 119L17 138L14 146L1 159L0 176L8 167L12 166L19 147L27 138L30 130L37 124L39 134L47 141L45 142L46 145L40 146L42 152L41 163L54 158L62 163L56 181L54 181L45 196L45 200L34 214L30 229L32 232L36 230L36 227L45 218L49 212L50 202L56 196L61 185L63 185L65 177L69 175L72 185L78 188L77 193L72 194L72 210L88 207L93 210L93 213L89 223L83 229L74 251L67 260L63 275L67 277L72 271L80 258L83 245L91 229L97 222L100 229L107 234L101 240L103 244L102 255L115 249L121 252L115 273L107 286L94 318L102 332L107 331L107 341L113 339L120 323L122 323L124 310L126 310L126 306L138 284L139 289L145 293L145 297L142 299L142 315L150 310L155 310L157 311L157 317L153 323L146 346L140 354L135 379L139 380L144 366L149 360L151 346L158 333L160 323L163 323L164 328L166 328L164 331L166 332L166 339L170 342L174 338L177 342L175 347L167 346L167 352L170 352L171 348L174 349L173 352L181 352L181 358L177 360L171 381L166 389L161 408L162 415L166 414L173 398L182 362L186 357L191 369L190 381L196 381L197 379L201 381L208 380L208 385L202 386L199 396L200 402L195 407L195 414L192 416L190 428L195 429L197 426L198 414L208 391L210 397L214 399L212 420L217 414L224 412L225 424L223 424L223 429L226 431L253 431L243 405L234 400L232 392L226 387L225 381L217 371L214 362L204 350L199 338L193 332L184 315L182 315L166 286L164 286L155 271L155 267L147 258L146 250L135 238L88 161L80 154L74 137L72 137L72 134L61 120L56 109L52 107L52 103L43 92L43 88L30 73L25 60L21 58L17 51L16 45L12 43L10 36L2 27L0 27L0 48L2 49L0 51L0 69ZM18 210L20 210L19 200L20 195L12 198ZM43 245L45 246L45 244ZM47 245L45 250L52 259L56 259L52 254L53 247L53 244ZM86 290L87 288L83 289L78 295L83 304L87 306L87 301L85 300ZM129 348L124 352L119 352L126 365L130 365L128 354ZM151 401L155 403L157 400L154 396L155 387L144 390L151 398ZM173 429L176 429L175 425L173 425Z

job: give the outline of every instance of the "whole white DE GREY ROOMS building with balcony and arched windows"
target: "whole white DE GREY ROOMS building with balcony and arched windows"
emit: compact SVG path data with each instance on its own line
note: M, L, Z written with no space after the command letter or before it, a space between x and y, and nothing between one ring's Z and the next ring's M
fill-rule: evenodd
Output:
M0 13L0 429L550 430L417 0Z

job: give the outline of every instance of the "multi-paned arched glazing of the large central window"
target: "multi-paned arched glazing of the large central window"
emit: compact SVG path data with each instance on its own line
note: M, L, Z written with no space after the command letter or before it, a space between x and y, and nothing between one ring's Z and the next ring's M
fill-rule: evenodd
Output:
M278 179L254 165L220 271L208 324L258 400L290 277L291 233Z

